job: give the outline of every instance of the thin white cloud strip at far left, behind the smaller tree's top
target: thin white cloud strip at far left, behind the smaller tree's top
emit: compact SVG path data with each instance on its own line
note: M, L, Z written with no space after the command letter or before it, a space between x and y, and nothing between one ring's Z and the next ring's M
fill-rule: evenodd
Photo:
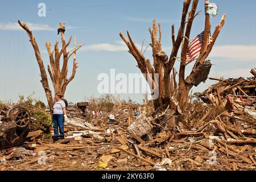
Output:
M27 23L27 26L31 31L55 31L56 28L50 27L48 24L38 24L38 23ZM19 23L0 23L0 30L23 30L19 26Z

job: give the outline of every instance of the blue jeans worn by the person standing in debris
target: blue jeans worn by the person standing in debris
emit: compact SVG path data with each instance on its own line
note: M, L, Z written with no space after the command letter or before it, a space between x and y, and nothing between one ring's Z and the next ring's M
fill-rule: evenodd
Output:
M52 121L54 124L53 129L54 129L55 139L64 138L64 114L53 114ZM58 128L60 130L60 135L59 135Z

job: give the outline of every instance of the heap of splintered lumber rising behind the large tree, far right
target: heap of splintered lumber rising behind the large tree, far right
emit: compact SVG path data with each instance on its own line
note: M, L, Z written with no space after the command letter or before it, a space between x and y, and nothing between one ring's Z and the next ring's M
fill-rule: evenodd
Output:
M212 78L212 80L219 80L219 82L205 90L200 96L201 100L213 106L225 107L228 111L233 111L236 114L246 112L255 117L255 77L247 78L247 80L242 77L237 79Z

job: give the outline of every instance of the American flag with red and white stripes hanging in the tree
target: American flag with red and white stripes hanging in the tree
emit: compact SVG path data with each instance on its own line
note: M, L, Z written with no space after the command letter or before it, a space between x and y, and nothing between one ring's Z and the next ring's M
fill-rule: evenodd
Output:
M199 56L203 38L204 31L197 35L197 37L188 46L187 63L190 63L191 61L195 60L197 56ZM212 43L212 36L209 36L209 44L210 43Z

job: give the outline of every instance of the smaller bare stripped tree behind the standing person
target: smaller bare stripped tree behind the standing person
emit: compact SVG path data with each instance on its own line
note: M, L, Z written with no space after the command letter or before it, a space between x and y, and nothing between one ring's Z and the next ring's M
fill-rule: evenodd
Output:
M26 30L26 32L30 38L30 42L35 51L36 60L38 61L38 65L40 68L40 73L41 73L41 78L42 78L41 82L42 82L42 85L44 88L44 92L46 92L48 105L49 105L49 108L52 108L53 104L54 104L52 92L49 89L46 68L44 67L41 53L39 51L38 44L36 43L36 39L34 38L32 31L30 31L30 28L28 28L26 23L22 23L22 22L20 22L20 20L18 21L18 23L24 30ZM65 29L63 23L60 23L59 26L60 26L61 30ZM76 69L77 69L76 51L77 51L77 49L81 48L84 44L81 44L80 46L76 46L76 37L75 37L75 47L72 48L71 50L67 51L67 47L71 43L72 37L70 37L68 40L68 43L66 43L64 31L60 31L60 36L61 36L61 44L62 44L60 51L59 51L59 42L55 43L55 47L54 47L53 51L51 50L51 43L50 42L46 43L46 48L48 51L49 61L50 61L50 65L51 65L51 67L48 65L47 68L48 68L49 76L51 77L54 92L61 93L64 96L65 90L67 89L67 85L69 84L69 82L71 82L73 80L73 78L76 75ZM54 56L53 56L53 54L54 54ZM67 78L68 60L72 55L73 55L72 75L71 75L71 77ZM63 56L63 67L60 69L61 56Z

